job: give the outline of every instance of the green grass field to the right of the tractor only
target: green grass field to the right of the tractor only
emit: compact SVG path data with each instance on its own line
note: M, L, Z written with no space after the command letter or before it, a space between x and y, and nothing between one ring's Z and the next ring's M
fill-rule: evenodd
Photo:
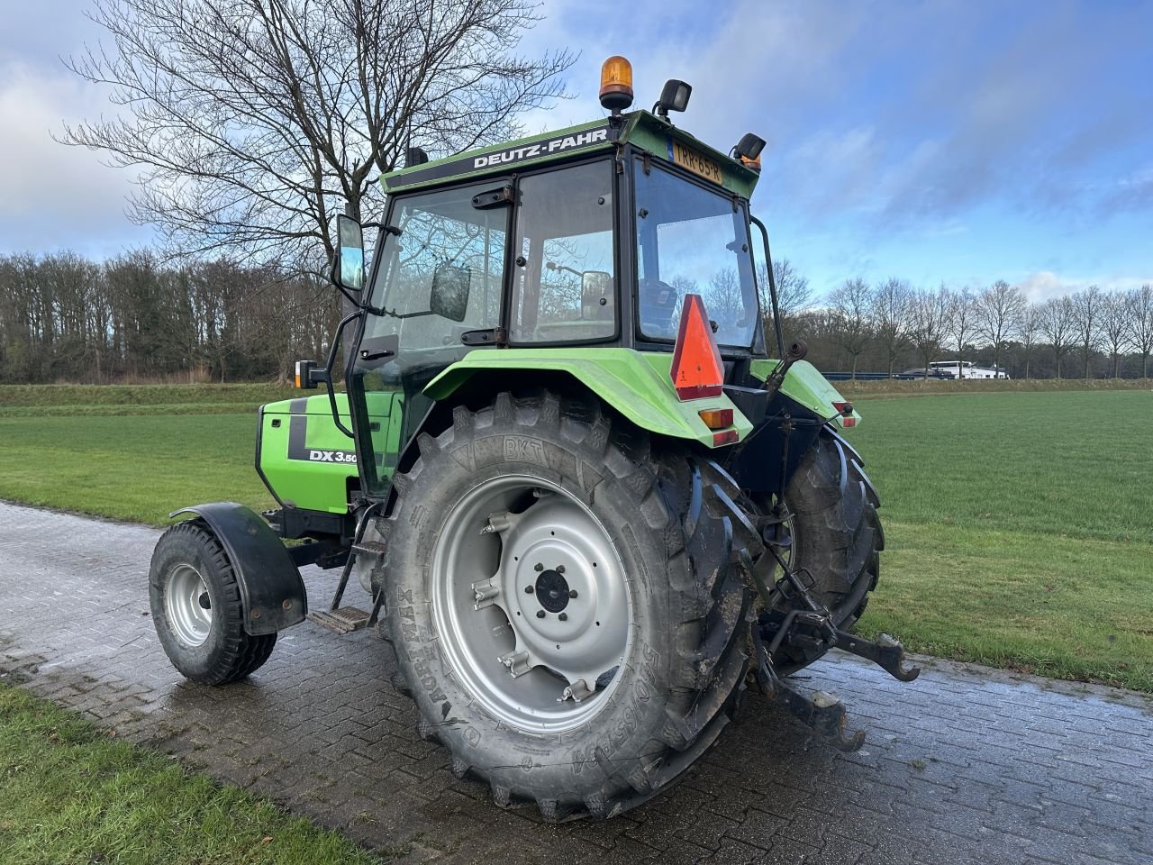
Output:
M860 399L883 507L861 622L913 649L1153 691L1153 394Z

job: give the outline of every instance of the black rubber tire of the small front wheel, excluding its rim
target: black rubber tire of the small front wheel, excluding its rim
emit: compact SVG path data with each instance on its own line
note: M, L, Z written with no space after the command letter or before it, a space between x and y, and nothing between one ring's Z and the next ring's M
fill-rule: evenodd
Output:
M189 564L204 580L212 606L208 639L189 646L173 631L165 610L165 591L173 570ZM201 520L179 522L157 541L149 571L152 624L165 654L180 674L205 685L223 685L258 670L277 635L254 637L244 631L244 610L232 563L212 531Z

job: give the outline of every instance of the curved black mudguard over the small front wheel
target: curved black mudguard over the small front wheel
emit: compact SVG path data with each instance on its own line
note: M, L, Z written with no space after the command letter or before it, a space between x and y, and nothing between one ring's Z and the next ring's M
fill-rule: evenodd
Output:
M244 630L254 635L276 633L304 620L308 595L287 548L255 511L235 502L181 507L204 520L224 544L240 586Z

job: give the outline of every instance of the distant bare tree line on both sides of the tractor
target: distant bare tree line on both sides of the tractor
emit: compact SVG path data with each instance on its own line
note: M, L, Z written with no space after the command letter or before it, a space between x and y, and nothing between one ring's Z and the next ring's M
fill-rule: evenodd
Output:
M768 310L767 274L758 276ZM774 276L786 338L805 339L823 371L892 375L971 360L1012 378L1148 377L1148 285L1031 303L1003 280L973 292L853 278L816 300L787 260L774 262ZM723 288L703 291L710 308ZM321 276L224 257L0 256L0 382L286 381L293 361L323 359L340 313Z

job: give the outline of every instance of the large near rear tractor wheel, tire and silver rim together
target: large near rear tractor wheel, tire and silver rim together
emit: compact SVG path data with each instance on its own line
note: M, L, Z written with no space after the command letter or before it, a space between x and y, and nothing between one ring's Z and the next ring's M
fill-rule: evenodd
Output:
M595 400L502 393L419 445L380 531L421 736L548 820L655 795L744 689L734 517L687 450Z

